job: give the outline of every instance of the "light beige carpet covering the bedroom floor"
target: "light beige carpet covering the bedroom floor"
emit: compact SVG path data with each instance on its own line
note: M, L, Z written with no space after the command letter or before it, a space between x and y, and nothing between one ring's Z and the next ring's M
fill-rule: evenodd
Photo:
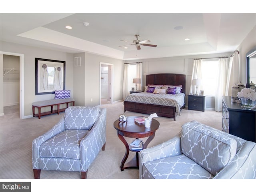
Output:
M5 107L5 116L0 117L1 151L0 151L0 178L1 179L33 179L32 171L32 140L52 128L63 116L53 114L41 119L19 119L19 106ZM107 141L105 151L100 151L88 170L88 179L138 179L138 169L126 169L121 172L120 163L125 153L124 144L119 140L113 127L114 121L123 114L122 102L106 104L107 108ZM126 111L126 116L141 115ZM181 116L172 118L157 117L160 128L148 147L160 144L175 136L181 130L182 124L197 120L219 130L222 130L222 112L206 110L205 112L187 110L181 111ZM132 138L127 138L131 142ZM127 162L134 157L130 152ZM80 179L80 172L41 171L41 179Z

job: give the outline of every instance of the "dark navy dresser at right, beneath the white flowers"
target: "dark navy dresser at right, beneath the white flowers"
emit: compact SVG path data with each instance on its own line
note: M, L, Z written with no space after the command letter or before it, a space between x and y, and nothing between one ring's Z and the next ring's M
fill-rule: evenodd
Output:
M255 142L255 110L241 108L240 103L231 101L230 96L222 96L222 131Z

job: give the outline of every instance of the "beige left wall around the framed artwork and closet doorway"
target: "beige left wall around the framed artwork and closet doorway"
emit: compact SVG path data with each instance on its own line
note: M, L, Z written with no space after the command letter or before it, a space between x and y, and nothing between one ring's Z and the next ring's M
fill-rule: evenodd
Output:
M1 41L1 51L24 54L24 116L32 115L34 101L53 99L54 94L35 95L35 58L66 61L66 89L73 90L73 54ZM1 91L2 95L2 91ZM72 95L72 93L71 93Z

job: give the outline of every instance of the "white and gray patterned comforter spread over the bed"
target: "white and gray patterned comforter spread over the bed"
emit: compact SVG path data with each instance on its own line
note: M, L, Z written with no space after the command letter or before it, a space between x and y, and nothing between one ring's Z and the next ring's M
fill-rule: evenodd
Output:
M185 104L185 94L153 94L148 92L141 92L128 95L124 101L173 106L176 107L176 112L178 115L180 115L180 108Z

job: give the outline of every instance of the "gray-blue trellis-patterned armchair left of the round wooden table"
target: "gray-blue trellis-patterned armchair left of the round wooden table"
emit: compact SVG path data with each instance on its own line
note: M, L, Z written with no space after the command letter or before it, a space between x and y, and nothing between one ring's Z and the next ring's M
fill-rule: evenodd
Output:
M106 108L70 106L52 129L33 140L34 178L40 178L42 169L79 171L86 179L90 164L105 144Z

